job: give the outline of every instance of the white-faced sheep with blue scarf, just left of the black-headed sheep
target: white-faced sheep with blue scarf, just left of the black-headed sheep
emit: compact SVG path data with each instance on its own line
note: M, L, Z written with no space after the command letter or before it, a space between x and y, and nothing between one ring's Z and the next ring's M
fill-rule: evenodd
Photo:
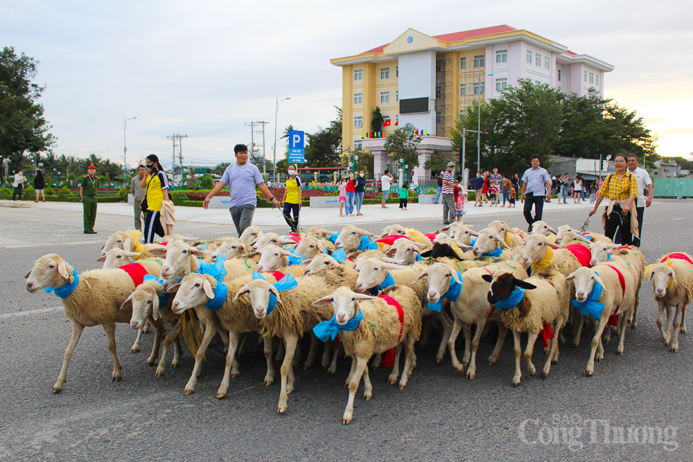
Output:
M457 369L457 371L464 371L464 366L469 364L469 368L467 369L468 379L473 379L476 376L476 352L486 323L489 321L496 321L499 329L498 341L496 342L491 357L489 357L489 365L495 364L498 360L500 348L507 334L505 324L500 321L502 310L495 310L489 301L486 300L486 293L489 292L488 284L481 277L484 274L493 274L493 272L499 269L507 269L520 279L527 278L527 272L523 267L507 260L499 260L497 263L485 267L468 269L461 275L448 265L436 263L423 270L419 275L419 278L428 277L427 299L429 303L437 303L440 301L442 296L450 290L453 281L462 285L462 287L459 287L457 298L455 300L450 300L450 312L453 314L453 328L448 338L448 349L450 350L450 357L453 360L453 367ZM460 276L462 279L460 279ZM471 339L470 329L472 324L476 324L473 340ZM466 344L464 348L464 358L462 359L462 364L460 364L457 360L457 354L455 353L455 341L457 341L457 335L459 335L459 331L462 328L464 328Z

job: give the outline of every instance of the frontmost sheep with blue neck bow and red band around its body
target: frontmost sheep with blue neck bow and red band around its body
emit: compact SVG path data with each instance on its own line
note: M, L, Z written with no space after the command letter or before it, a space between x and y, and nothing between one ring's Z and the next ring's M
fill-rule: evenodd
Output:
M399 308L389 304L381 298L382 296L394 299ZM357 294L347 287L340 287L333 294L316 300L313 305L322 306L330 303L333 305L334 317L326 323L332 324L335 329L349 326L349 330L339 331L344 350L352 357L351 373L347 379L349 401L342 417L342 423L346 425L351 423L353 398L361 376L365 384L363 398L372 398L373 387L368 377L367 362L374 353L385 353L395 348L394 367L387 379L387 383L394 384L399 374L399 355L402 347L405 348L405 364L399 380L399 389L406 387L412 373L414 341L421 334L421 304L416 293L405 285L389 287L380 297ZM362 321L358 322L356 328L349 325L350 321L353 323L353 319L360 318Z

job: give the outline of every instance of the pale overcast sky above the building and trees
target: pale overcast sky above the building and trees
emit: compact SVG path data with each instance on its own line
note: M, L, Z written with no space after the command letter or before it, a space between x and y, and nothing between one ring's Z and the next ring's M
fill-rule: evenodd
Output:
M455 6L453 6L455 5ZM451 14L452 13L452 14ZM37 82L57 154L170 163L174 133L184 163L229 161L249 143L243 123L314 132L342 105L335 57L386 44L414 28L428 35L507 24L613 64L605 94L660 136L658 153L693 152L693 3L588 1L3 1L0 46L41 62Z

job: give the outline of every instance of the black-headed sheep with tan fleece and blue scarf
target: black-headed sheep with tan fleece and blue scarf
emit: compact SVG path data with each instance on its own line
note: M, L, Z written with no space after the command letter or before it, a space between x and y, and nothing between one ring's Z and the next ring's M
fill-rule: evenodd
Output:
M535 235L536 236L536 235ZM545 236L544 236L545 237ZM570 294L568 283L563 274L548 270L538 272L526 281L518 279L507 269L500 269L491 274L483 274L484 281L491 283L486 299L489 303L501 308L501 320L513 331L515 339L515 375L513 387L520 384L520 334L527 333L525 362L529 374L534 375L536 368L532 364L532 353L536 337L542 333L547 337L547 330L552 329L550 350L542 375L547 377L551 370L552 359L558 361L558 335L568 319L568 301ZM526 292L523 294L522 290ZM518 295L518 296L516 296Z

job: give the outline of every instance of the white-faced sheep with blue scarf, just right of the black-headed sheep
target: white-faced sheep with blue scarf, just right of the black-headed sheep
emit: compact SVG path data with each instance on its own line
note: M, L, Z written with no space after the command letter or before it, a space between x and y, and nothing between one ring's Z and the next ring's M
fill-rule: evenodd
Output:
M615 319L619 315L622 316L620 326L617 326L619 344L616 351L619 355L623 354L626 324L626 317L623 314L627 315L633 310L635 281L623 262L603 263L593 268L580 267L566 279L574 283L575 300L571 302L572 305L576 308L581 307L581 311L588 311L595 319L595 337L592 339L590 359L585 369L586 375L593 375L595 359L597 361L604 359L602 332L609 318ZM603 289L599 289L595 284ZM595 307L593 303L601 305ZM601 310L601 313L597 314L595 309Z

